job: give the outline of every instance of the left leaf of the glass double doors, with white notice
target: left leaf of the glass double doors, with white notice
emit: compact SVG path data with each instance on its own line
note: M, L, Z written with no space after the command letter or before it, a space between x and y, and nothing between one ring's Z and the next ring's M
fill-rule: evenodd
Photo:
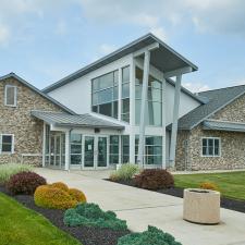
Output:
M84 168L95 168L95 137L84 137Z

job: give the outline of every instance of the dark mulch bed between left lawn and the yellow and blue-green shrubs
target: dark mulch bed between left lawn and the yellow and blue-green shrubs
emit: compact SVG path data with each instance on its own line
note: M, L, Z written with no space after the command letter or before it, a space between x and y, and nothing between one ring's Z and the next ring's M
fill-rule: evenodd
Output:
M33 209L46 217L52 224L70 233L77 238L83 245L117 245L119 237L126 235L130 231L113 231L111 229L76 226L70 228L63 223L63 210L45 209L37 207L30 195L12 196L4 186L0 185L0 192L13 197L25 207Z

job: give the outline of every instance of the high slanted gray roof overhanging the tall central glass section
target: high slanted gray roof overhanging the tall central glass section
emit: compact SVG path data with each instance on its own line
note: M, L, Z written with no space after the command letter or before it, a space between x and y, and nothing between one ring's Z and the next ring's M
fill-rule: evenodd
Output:
M98 61L72 73L69 76L58 81L54 84L42 89L44 93L49 93L56 88L59 88L81 76L86 75L87 73L95 71L103 65L107 65L128 53L135 52L146 46L158 42L159 48L152 50L150 53L150 63L159 69L162 72L170 72L172 70L191 66L193 71L197 71L198 68L193 64L191 61L182 57L180 53L174 51L168 45L166 45L162 40L154 36L151 33L130 42L128 45L115 50L114 52L99 59Z

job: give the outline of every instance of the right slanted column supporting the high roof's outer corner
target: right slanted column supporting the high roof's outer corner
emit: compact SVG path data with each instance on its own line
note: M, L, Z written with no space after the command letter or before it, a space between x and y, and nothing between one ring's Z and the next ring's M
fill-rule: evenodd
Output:
M170 143L170 167L175 167L175 149L176 149L176 136L177 136L177 119L181 97L181 79L182 75L176 76L175 91L174 91L174 105L173 105L173 122L171 131L171 143Z

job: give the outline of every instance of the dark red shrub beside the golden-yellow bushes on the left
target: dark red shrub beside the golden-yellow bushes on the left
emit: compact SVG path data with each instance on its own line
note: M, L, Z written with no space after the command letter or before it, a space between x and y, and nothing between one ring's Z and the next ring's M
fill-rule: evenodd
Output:
M33 195L39 185L47 184L46 180L34 172L21 172L12 175L7 183L7 188L14 195Z

